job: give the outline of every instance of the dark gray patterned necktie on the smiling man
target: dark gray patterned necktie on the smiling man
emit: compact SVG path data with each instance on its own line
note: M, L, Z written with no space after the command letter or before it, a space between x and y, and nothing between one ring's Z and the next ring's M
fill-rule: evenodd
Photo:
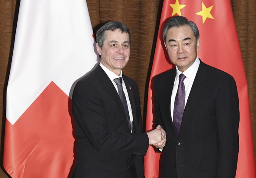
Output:
M128 122L128 127L129 127L129 131L131 131L131 121L130 121L130 116L129 116L129 111L128 111L128 105L127 105L127 101L124 95L124 91L123 91L123 79L121 77L114 79L114 82L117 84L117 89L118 89L118 94L120 96L121 102L124 106L124 112L126 115L126 119Z

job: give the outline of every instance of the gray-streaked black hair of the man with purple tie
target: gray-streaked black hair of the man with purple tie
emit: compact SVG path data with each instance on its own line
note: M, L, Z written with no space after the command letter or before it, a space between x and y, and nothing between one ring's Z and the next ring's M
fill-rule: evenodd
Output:
M174 16L170 19L168 19L168 21L165 23L165 27L164 27L164 31L163 31L163 39L164 42L166 42L166 36L167 36L167 32L169 29L171 29L172 27L181 27L181 26L185 26L185 25L189 25L191 27L191 29L194 32L194 36L196 37L196 41L199 38L199 30L197 28L197 25L192 22L192 21L188 21L186 17L183 16Z

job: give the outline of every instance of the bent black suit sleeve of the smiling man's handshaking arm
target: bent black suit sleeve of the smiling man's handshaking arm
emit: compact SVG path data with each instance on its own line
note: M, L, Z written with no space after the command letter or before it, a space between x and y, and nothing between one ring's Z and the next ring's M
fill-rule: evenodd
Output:
M110 93L99 84L87 80L77 83L73 91L72 112L84 133L78 137L87 137L99 152L136 151L145 155L149 142L147 134L125 133L124 125L119 122L122 115L111 107L111 102Z

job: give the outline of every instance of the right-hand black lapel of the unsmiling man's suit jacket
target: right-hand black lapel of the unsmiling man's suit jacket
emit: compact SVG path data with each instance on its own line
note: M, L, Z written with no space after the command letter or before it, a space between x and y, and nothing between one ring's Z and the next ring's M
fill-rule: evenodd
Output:
M183 119L179 130L179 137L186 131L194 113L197 109L199 102L206 90L206 85L204 84L207 80L207 73L205 71L204 63L200 62L199 68L197 70L197 75L195 77L194 83L192 85L187 104L183 113Z

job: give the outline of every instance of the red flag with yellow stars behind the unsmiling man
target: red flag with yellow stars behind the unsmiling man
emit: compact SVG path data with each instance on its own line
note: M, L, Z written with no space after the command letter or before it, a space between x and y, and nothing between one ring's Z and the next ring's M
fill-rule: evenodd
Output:
M230 0L164 0L149 83L146 131L152 129L154 122L152 78L173 67L168 63L162 32L166 19L175 15L185 16L197 24L201 37L198 57L206 64L229 73L236 80L240 105L240 148L236 178L254 178L255 160L247 81ZM145 157L146 178L158 178L159 158L160 154L150 147Z

